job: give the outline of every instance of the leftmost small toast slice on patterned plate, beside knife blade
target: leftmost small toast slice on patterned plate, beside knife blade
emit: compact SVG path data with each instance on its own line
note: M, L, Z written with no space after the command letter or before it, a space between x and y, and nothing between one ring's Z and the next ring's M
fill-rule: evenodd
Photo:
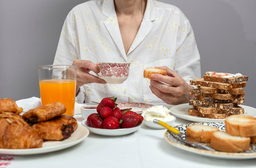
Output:
M193 138L198 142L208 143L211 141L211 135L219 131L217 127L211 127L209 125L190 125L186 127L186 135Z

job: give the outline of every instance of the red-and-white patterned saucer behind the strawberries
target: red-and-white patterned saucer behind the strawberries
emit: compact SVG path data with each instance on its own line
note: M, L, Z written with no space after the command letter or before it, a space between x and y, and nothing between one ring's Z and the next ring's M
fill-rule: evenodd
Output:
M125 102L125 103L116 103L117 107L120 109L127 109L132 108L131 111L136 113L142 113L144 109L148 109L154 105L146 104L146 103L132 103L132 102Z

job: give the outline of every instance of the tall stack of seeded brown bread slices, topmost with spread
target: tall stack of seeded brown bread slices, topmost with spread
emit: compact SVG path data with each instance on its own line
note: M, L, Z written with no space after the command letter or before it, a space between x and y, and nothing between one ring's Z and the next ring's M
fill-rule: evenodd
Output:
M193 79L190 94L195 98L189 100L192 108L189 115L206 118L223 119L233 114L243 114L244 109L239 105L245 103L243 88L248 76L222 72L205 72L202 79Z

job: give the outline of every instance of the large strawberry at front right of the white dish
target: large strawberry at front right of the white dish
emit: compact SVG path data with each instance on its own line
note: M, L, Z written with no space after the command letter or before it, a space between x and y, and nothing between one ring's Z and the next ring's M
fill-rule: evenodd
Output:
M139 125L139 118L132 115L124 115L120 118L120 128L132 128Z

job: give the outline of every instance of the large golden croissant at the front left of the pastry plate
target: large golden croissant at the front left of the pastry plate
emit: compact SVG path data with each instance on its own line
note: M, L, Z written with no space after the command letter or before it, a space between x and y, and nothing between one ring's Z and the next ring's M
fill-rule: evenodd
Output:
M40 148L43 139L20 115L11 112L0 113L0 148Z

